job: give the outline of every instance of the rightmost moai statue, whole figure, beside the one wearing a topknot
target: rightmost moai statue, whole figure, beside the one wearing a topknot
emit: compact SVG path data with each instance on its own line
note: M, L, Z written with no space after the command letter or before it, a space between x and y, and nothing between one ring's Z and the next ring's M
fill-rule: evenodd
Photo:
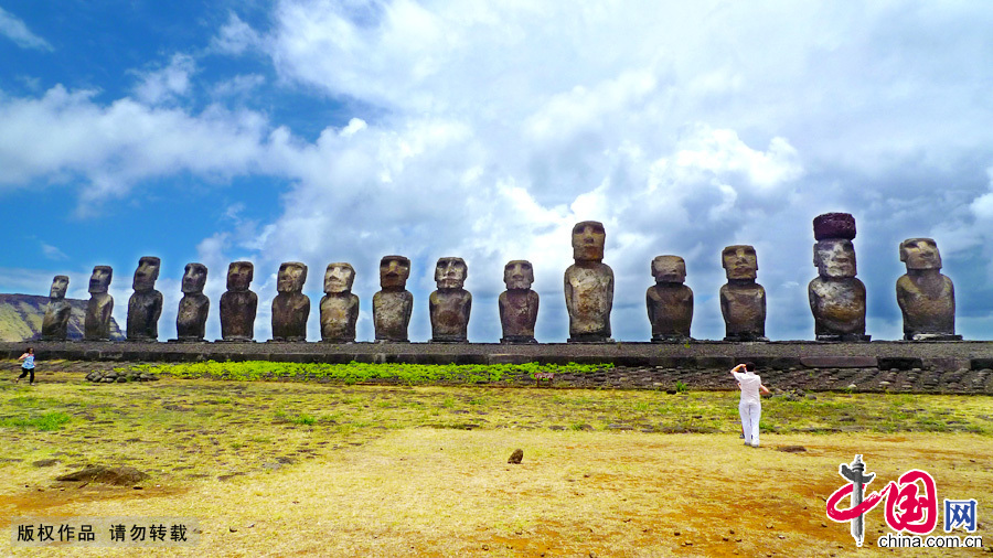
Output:
M907 341L960 341L955 335L955 288L941 275L941 254L931 238L900 243L907 275L897 279L897 303Z

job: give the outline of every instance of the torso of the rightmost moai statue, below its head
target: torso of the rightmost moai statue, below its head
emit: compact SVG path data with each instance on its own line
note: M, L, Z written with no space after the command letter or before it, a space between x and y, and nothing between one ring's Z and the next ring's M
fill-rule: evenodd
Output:
M917 334L953 335L955 290L941 275L905 275L897 279L897 302L904 313L904 337Z

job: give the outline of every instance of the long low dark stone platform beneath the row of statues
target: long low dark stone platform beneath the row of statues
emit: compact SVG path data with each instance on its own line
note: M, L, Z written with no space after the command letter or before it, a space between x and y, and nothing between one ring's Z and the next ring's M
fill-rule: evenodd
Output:
M993 342L768 343L0 343L0 357L17 358L28 345L40 361L197 362L273 361L295 363L407 364L613 364L673 369L730 368L750 361L761 369L877 368L953 372L993 368Z

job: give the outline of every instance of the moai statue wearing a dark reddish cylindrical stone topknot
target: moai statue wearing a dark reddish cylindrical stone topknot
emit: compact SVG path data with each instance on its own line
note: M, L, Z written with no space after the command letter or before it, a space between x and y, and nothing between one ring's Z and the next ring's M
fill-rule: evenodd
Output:
M865 334L865 285L855 278L855 217L825 213L814 218L814 266L810 310L818 341L868 341Z

